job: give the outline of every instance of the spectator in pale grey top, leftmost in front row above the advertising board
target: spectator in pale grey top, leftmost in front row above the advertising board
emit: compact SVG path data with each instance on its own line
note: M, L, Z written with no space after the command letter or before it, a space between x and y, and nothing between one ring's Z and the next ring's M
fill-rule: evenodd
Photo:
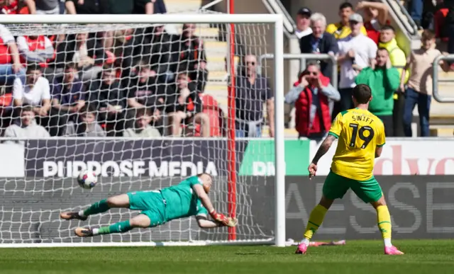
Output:
M36 139L50 136L44 127L36 125L35 112L33 107L28 105L21 110L21 122L6 127L4 137Z

